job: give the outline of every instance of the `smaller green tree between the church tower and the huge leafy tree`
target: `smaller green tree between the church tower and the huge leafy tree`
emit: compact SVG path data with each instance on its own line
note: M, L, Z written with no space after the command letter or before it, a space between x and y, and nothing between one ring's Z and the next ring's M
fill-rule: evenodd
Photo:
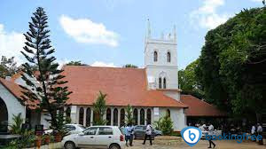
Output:
M196 76L199 59L178 71L178 82L183 94L191 94L197 98L204 98L203 86Z

